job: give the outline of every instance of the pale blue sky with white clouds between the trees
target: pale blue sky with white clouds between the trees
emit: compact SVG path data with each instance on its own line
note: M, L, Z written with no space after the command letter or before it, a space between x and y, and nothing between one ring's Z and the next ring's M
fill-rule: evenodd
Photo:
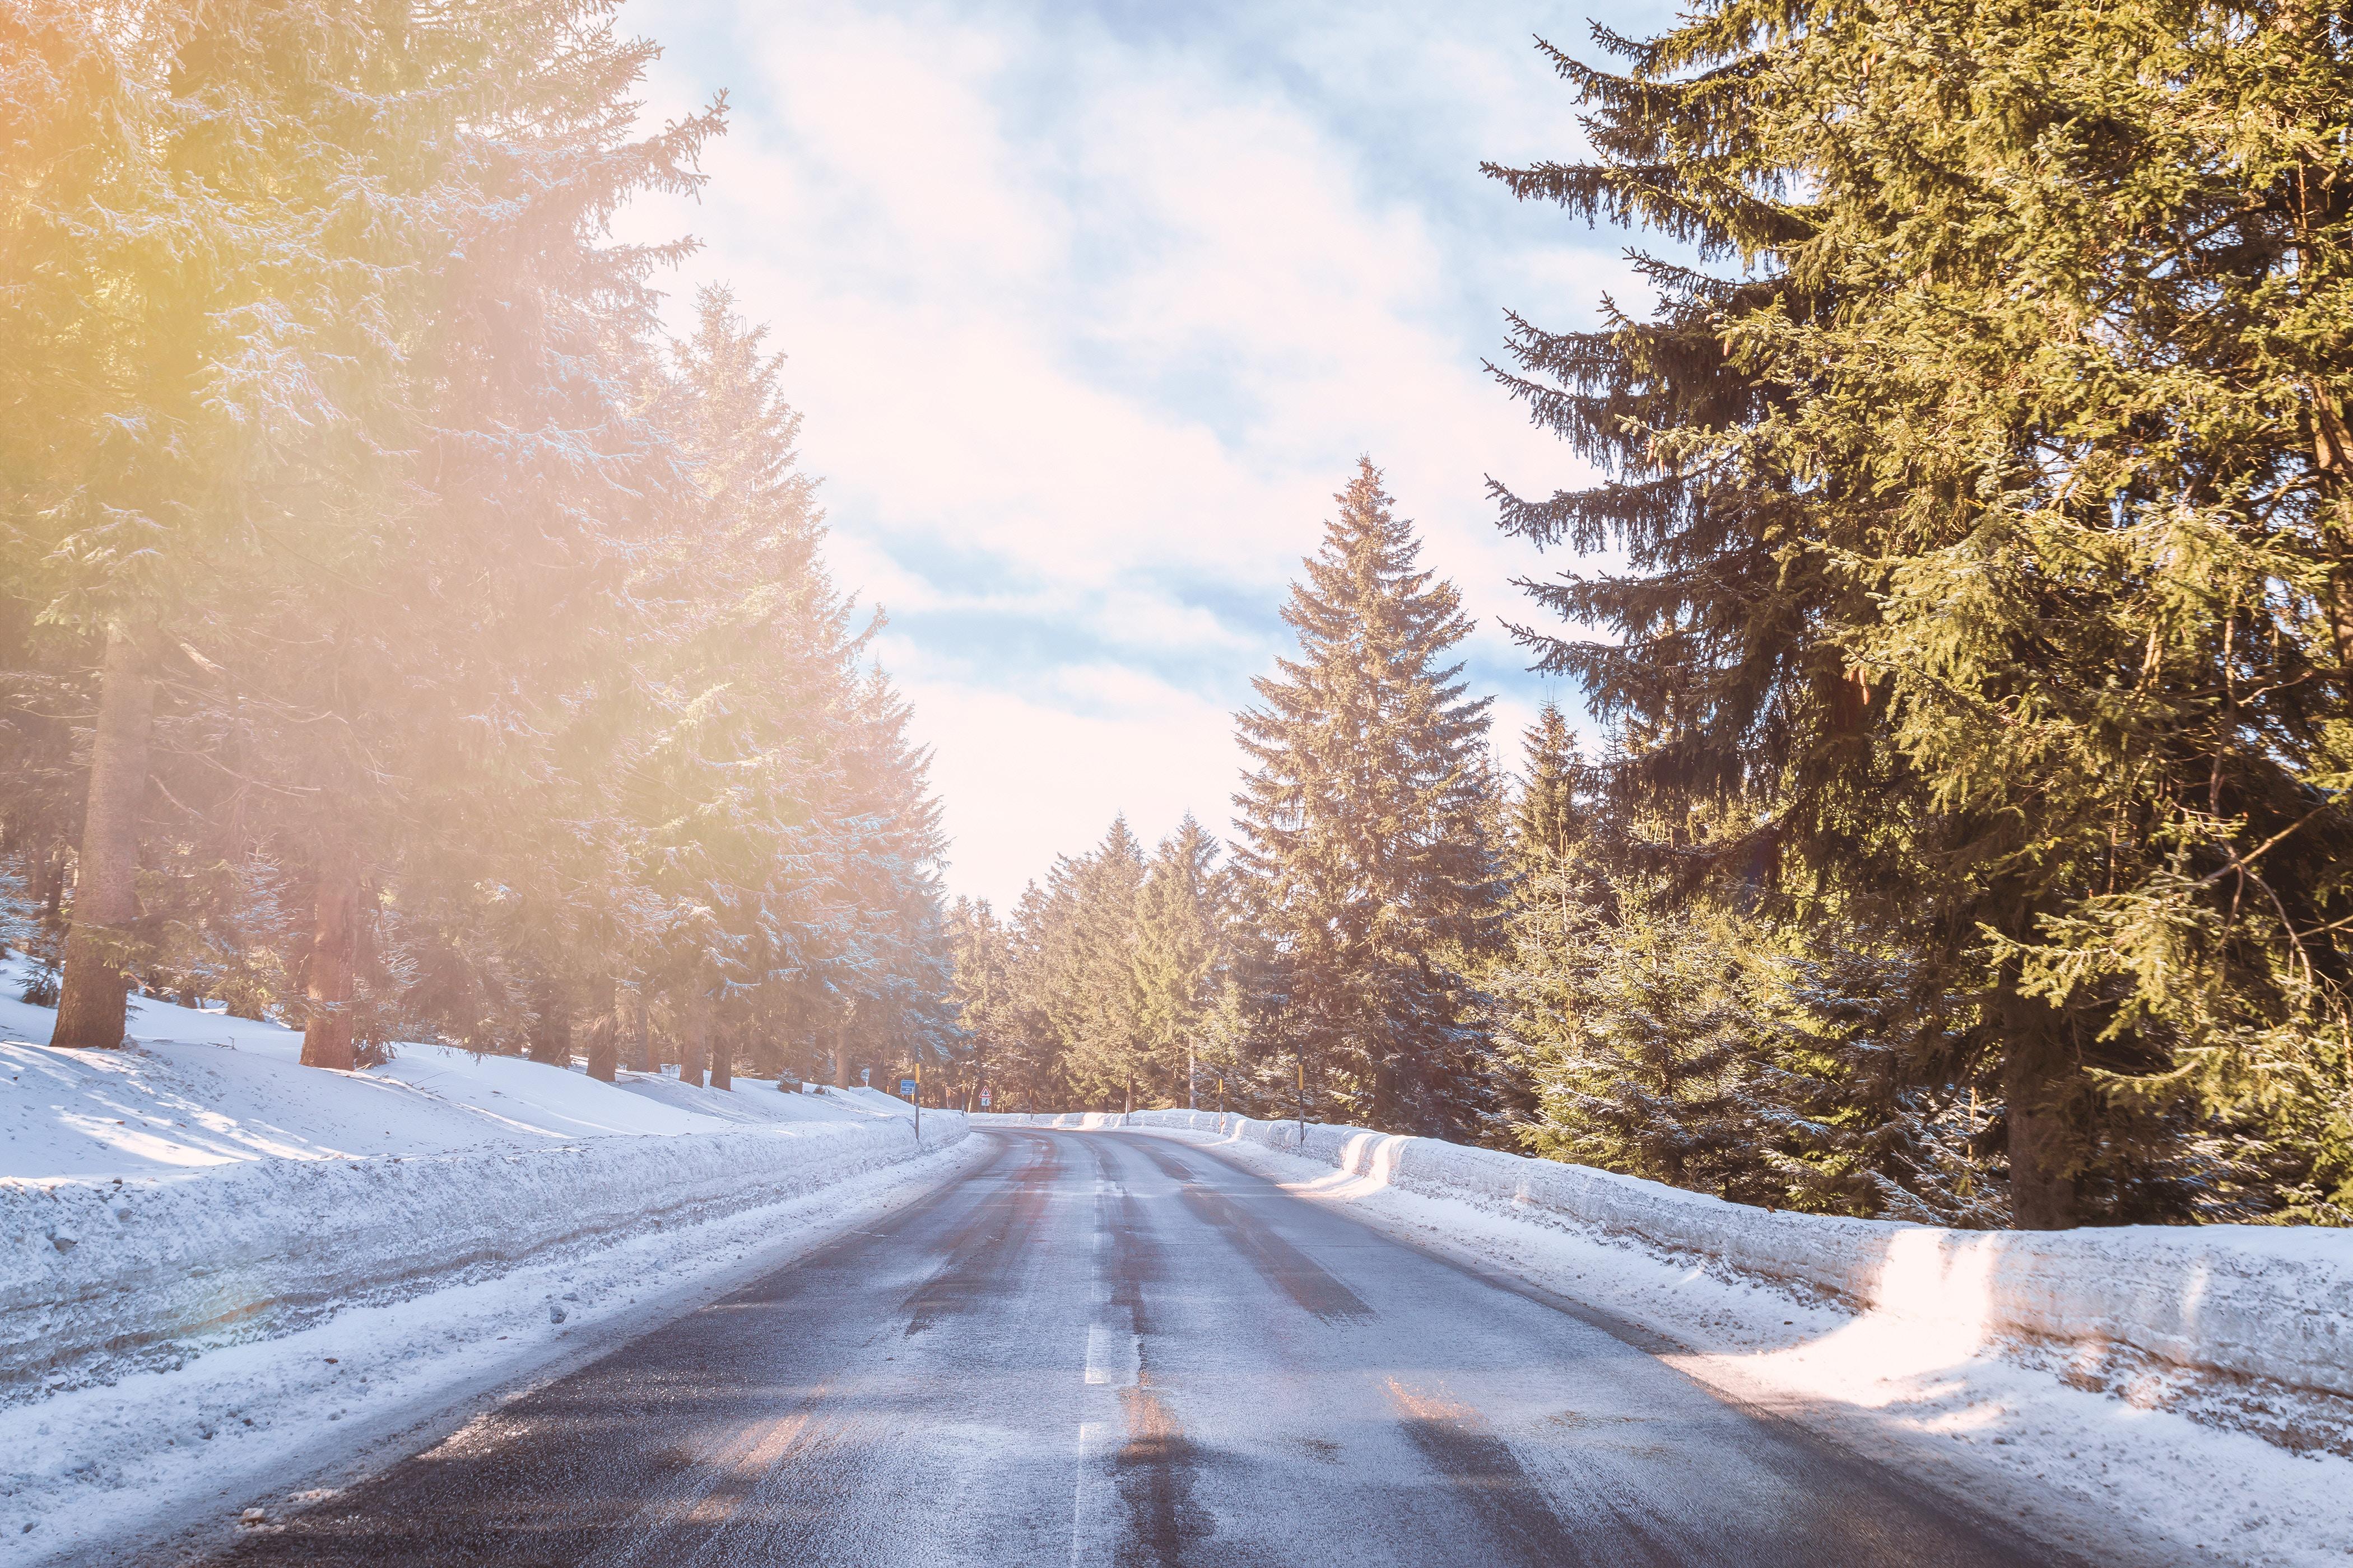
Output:
M647 115L727 92L685 322L725 282L769 324L838 581L889 618L953 839L948 886L1019 898L1115 813L1228 832L1233 712L1360 454L1464 595L1497 748L1546 696L1511 585L1574 562L1485 496L1591 473L1482 371L1504 310L1642 308L1628 235L1518 205L1480 160L1577 158L1586 16L1664 7L628 0Z

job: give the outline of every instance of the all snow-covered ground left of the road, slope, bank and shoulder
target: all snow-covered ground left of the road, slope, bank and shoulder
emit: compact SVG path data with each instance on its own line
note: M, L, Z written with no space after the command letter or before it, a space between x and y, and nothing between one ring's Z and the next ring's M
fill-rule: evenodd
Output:
M951 1178L878 1091L600 1084L132 1004L52 1051L0 964L0 1563L169 1561ZM216 1544L216 1535L214 1535Z

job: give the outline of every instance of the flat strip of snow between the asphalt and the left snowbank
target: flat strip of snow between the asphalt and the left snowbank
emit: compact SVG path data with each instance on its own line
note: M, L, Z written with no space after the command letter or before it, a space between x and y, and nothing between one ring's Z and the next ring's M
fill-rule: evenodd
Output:
M485 1389L558 1378L984 1157L984 1140L967 1140L784 1204L344 1307L181 1368L0 1408L0 1563L162 1563L181 1535L226 1544L247 1507L275 1519L311 1505L438 1441Z

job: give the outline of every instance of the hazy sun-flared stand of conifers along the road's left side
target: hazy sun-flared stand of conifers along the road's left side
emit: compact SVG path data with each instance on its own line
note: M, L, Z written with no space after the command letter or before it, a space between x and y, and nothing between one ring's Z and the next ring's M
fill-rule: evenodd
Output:
M939 1056L925 757L612 0L0 7L0 827L134 990L591 1072Z

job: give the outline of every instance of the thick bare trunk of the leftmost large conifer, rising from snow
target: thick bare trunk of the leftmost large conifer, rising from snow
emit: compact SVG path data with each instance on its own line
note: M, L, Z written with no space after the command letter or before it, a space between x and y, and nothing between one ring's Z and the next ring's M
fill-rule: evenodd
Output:
M66 931L64 983L52 1046L113 1048L132 976L125 969L139 919L139 804L146 799L148 733L155 726L155 670L122 632L106 637L99 724L89 738L89 802L82 858Z

